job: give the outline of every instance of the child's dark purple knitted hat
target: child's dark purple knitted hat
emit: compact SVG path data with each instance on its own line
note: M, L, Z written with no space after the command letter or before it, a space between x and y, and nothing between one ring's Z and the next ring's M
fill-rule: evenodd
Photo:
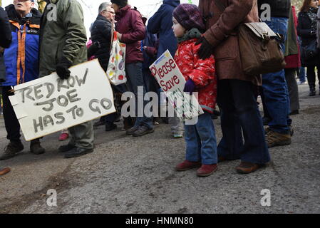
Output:
M202 32L205 31L202 14L196 5L180 4L173 11L173 17L187 30L197 28Z

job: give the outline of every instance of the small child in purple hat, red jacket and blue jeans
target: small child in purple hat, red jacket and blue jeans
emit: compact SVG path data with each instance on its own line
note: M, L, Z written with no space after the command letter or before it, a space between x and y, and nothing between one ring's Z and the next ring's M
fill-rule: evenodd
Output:
M175 61L187 81L184 92L198 93L198 101L205 114L195 125L185 124L186 160L175 167L177 171L197 170L199 177L207 177L217 170L217 140L211 114L217 97L215 59L201 60L197 56L200 45L196 42L205 31L197 6L180 4L173 11L173 31L178 41Z

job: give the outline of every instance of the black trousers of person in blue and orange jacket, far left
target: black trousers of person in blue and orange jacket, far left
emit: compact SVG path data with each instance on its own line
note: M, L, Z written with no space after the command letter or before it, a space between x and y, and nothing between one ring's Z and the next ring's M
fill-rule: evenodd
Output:
M10 92L11 86L2 87L2 100L3 100L3 113L4 113L4 125L6 126L6 138L11 142L20 141L20 124L14 113L14 108L11 105L9 96L14 95Z

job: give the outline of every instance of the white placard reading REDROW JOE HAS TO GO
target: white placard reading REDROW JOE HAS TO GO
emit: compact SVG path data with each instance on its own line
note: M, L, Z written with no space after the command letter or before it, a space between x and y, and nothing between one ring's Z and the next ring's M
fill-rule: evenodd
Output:
M113 90L97 59L14 87L10 96L27 141L115 112Z

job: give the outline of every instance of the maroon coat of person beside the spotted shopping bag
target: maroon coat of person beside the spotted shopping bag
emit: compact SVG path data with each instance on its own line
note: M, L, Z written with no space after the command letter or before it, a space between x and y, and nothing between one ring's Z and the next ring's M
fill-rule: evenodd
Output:
M145 26L141 14L128 5L117 12L115 21L115 30L123 34L121 42L127 45L125 63L143 62L141 41L145 38Z

